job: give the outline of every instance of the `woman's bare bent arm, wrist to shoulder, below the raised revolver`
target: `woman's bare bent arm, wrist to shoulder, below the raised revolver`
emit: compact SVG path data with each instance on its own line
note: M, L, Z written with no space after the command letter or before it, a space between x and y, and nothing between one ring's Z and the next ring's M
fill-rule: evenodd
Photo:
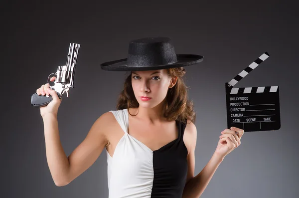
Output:
M86 171L97 160L108 143L105 131L111 113L104 113L91 127L82 143L67 157L62 148L55 116L43 117L46 157L56 186L65 186Z

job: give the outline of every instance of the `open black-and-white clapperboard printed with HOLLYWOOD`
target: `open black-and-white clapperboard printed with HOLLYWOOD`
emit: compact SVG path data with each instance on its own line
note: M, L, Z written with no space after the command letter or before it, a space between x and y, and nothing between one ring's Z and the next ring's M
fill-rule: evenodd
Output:
M233 88L269 56L265 52L230 82L225 83L228 129L232 126L245 132L280 129L279 86Z

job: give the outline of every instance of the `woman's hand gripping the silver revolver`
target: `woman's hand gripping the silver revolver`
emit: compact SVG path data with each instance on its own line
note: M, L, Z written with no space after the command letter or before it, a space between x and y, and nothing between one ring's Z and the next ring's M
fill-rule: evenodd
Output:
M50 81L54 81L56 79L55 76L53 76ZM36 90L37 95L51 95L53 100L49 102L47 106L40 107L40 115L41 117L45 117L47 115L54 115L57 116L58 108L60 106L60 103L62 101L62 98L59 99L57 93L55 90L52 90L49 88L49 83L41 85L40 88ZM45 96L46 97L46 96Z

